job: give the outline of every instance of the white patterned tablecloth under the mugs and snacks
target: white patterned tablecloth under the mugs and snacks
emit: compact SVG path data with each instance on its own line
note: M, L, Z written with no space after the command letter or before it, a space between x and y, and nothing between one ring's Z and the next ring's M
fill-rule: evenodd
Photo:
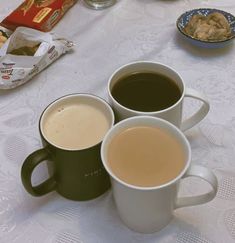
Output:
M3 19L21 0L0 0ZM119 0L106 10L88 9L80 1L53 29L74 41L62 56L25 85L0 91L0 242L235 242L235 47L206 50L186 43L175 22L186 10L212 7L235 14L234 0ZM26 156L41 147L38 119L45 106L75 92L107 99L107 80L123 64L152 60L176 69L188 87L202 91L211 109L185 134L192 163L211 168L218 177L216 198L182 208L162 231L139 234L126 228L115 209L112 192L88 202L56 193L35 198L21 184ZM198 104L185 101L185 114ZM45 164L33 174L47 177ZM207 191L205 183L187 179L180 194Z

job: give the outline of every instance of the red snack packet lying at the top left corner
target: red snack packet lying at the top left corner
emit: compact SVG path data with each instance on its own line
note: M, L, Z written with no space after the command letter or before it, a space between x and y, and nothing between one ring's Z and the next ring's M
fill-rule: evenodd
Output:
M41 31L50 31L77 0L25 0L1 23L15 30L25 26Z

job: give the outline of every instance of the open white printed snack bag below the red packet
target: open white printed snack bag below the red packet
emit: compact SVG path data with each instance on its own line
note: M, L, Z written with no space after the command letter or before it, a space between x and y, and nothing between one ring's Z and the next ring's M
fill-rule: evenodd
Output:
M64 38L18 27L0 48L0 89L24 84L72 47Z

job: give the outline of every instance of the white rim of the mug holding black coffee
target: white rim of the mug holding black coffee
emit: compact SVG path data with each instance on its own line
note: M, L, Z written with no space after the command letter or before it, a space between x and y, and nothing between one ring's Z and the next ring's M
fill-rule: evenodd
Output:
M119 103L113 97L112 92L111 92L111 88L110 88L112 80L113 80L113 77L118 72L120 72L122 69L124 69L125 67L131 66L131 65L135 65L135 64L140 64L140 63L144 63L144 64L148 64L149 63L149 64L154 64L154 65L165 67L165 68L170 69L171 71L173 71L179 77L179 79L181 81L181 84L182 84L182 87L183 87L183 91L181 93L180 98L177 100L177 102L175 102L173 105L171 105L171 106L169 106L169 107L167 107L165 109L159 110L159 111L138 111L138 110L134 110L134 109L131 109L131 108L128 108L128 107L122 105L121 103ZM134 61L134 62L129 62L127 64L122 65L121 67L119 67L118 69L116 69L112 73L112 75L109 77L109 81L108 81L108 94L109 94L109 97L111 97L112 102L114 102L115 105L120 106L122 109L124 109L126 111L135 113L136 115L145 115L145 114L147 114L147 115L156 115L156 114L161 114L161 113L167 112L167 111L173 109L174 107L176 107L178 104L180 104L182 102L182 100L183 100L183 98L185 96L185 84L184 84L184 81L183 81L182 77L180 76L180 74L175 69L171 68L170 66L168 66L166 64L163 64L163 63L160 63L160 62L154 62L154 61Z

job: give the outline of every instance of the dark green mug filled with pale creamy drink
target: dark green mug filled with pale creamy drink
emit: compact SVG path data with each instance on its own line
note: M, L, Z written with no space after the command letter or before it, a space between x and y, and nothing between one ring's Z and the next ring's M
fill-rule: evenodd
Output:
M39 120L43 148L30 154L21 169L26 191L33 196L57 191L71 200L103 194L110 181L101 162L100 146L113 125L111 107L97 96L71 94L52 102ZM50 161L50 178L33 186L32 173L45 160Z

